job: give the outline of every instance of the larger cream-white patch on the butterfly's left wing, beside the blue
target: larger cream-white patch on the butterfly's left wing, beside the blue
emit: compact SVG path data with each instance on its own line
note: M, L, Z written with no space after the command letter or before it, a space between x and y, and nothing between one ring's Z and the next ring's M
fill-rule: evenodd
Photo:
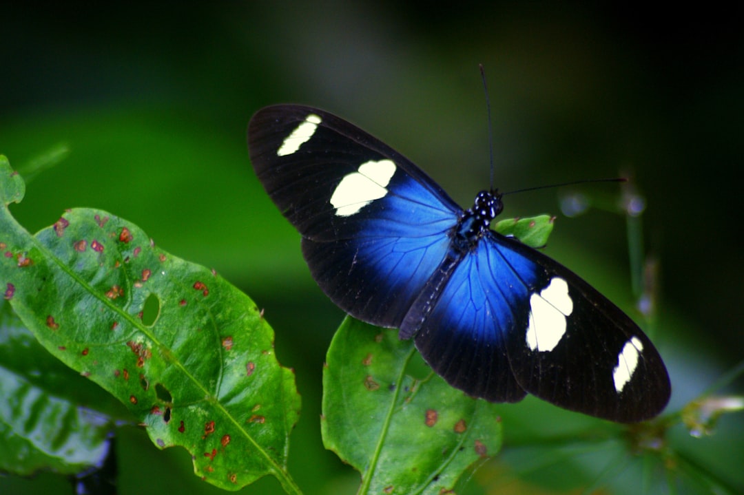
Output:
M344 176L330 197L336 215L351 216L372 201L384 198L396 166L391 160L368 161Z

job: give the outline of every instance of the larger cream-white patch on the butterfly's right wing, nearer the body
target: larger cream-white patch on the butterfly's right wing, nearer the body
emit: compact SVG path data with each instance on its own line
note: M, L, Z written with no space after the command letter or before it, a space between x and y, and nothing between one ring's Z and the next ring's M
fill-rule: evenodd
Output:
M527 346L533 351L549 352L565 334L566 317L574 311L568 284L555 277L539 294L530 296Z

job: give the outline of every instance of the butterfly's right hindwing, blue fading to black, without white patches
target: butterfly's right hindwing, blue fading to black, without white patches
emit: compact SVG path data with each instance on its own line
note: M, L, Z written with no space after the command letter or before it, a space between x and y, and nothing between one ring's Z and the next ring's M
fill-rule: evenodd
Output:
M527 287L522 279L484 242L437 273L446 280L432 288L437 293L426 296L429 308L411 308L401 336L415 335L429 366L467 394L496 402L522 400L527 392L507 355L510 332L526 322ZM501 284L510 290L502 291ZM427 302L422 296L419 306Z

